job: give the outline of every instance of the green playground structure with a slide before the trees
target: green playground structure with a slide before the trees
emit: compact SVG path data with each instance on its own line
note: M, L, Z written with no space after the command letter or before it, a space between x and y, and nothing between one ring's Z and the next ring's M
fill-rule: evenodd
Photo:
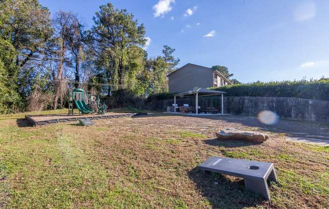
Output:
M69 115L74 115L74 109L78 109L80 114L97 113L104 115L106 113L105 102L101 103L99 95L97 99L91 94L85 93L82 88L74 88L69 96Z

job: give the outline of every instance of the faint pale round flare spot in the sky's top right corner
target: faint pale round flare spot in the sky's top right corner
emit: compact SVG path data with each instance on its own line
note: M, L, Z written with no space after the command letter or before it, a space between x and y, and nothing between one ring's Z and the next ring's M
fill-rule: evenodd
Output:
M312 19L315 17L315 14L315 3L310 1L299 4L293 12L294 20L297 22Z

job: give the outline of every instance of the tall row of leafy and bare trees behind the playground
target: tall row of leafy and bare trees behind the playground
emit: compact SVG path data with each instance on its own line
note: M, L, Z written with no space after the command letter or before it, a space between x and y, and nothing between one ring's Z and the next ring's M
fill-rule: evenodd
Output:
M179 59L144 50L145 27L127 10L99 7L86 29L78 15L53 15L37 0L0 0L0 113L62 108L67 89L147 96L168 90Z

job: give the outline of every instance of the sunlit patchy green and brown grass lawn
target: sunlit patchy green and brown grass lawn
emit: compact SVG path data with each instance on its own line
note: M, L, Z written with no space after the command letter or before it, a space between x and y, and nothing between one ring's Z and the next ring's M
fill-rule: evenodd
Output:
M259 130L252 118L153 114L33 128L24 115L0 116L0 208L329 207L327 147L285 141L279 130L262 144L215 139L228 127ZM272 201L240 178L195 169L210 156L275 163Z

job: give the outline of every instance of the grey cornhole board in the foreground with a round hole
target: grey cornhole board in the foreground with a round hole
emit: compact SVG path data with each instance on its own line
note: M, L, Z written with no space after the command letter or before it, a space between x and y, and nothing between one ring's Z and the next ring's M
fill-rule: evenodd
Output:
M267 178L278 182L273 163L228 157L210 157L197 167L203 171L241 177L244 179L247 190L261 194L267 200L270 200Z

